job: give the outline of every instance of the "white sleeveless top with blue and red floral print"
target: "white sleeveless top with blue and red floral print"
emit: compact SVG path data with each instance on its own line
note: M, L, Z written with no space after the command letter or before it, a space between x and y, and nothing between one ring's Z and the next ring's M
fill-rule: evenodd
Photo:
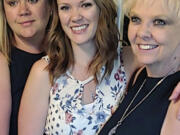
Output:
M104 71L105 67L102 67L100 77ZM95 135L98 132L112 115L112 109L117 108L126 87L120 52L118 59L114 60L111 75L96 86L94 102L83 105L81 103L83 86L91 79L90 77L85 81L79 81L66 72L55 80L50 90L45 134Z

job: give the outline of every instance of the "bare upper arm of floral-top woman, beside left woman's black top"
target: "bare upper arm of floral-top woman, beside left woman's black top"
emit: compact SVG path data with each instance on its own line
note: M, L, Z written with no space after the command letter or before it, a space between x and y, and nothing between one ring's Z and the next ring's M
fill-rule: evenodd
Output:
M18 115L19 135L43 134L50 91L46 66L46 61L41 59L33 65L30 71Z

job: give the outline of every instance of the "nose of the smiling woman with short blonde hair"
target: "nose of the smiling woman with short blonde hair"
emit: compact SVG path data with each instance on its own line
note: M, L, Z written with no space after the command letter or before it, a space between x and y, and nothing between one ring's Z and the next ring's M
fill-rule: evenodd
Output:
M140 24L137 32L138 37L143 40L149 40L152 38L151 26L149 24Z

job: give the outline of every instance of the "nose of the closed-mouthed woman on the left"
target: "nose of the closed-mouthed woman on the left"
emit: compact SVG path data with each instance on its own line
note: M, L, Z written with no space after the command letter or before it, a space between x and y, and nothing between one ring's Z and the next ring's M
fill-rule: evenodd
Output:
M26 0L20 1L19 3L19 15L20 16L30 15L29 6Z

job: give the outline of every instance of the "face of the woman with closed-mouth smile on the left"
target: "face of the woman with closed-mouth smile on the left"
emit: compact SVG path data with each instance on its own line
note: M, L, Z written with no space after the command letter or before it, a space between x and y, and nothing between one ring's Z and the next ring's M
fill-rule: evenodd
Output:
M48 0L4 0L7 22L15 39L44 35L49 21Z

